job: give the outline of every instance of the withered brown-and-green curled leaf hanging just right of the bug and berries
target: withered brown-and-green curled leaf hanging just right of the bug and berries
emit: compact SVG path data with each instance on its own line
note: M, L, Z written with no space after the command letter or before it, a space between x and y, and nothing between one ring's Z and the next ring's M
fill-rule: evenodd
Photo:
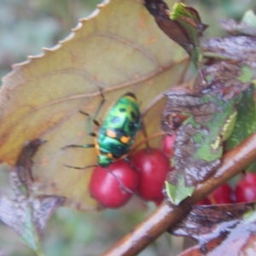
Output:
M229 137L236 120L236 105L241 96L226 101L218 93L196 95L183 88L167 94L162 128L170 131L171 113L189 116L178 127L174 143L174 164L177 173L183 173L186 186L195 186L212 174L220 164L223 141ZM174 175L167 181L177 186Z

